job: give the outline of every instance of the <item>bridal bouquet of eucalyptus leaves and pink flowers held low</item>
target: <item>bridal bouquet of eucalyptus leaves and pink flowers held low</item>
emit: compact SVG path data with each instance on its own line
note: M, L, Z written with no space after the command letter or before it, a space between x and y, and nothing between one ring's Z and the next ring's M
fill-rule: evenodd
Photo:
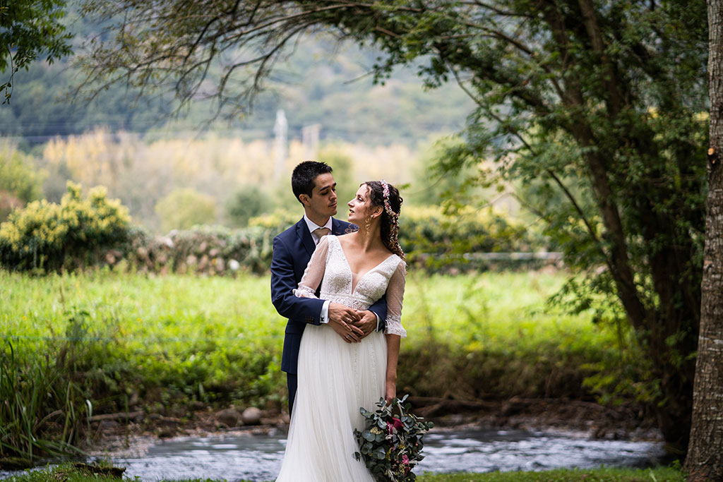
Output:
M424 458L422 436L434 424L410 413L409 405L403 405L407 397L395 398L390 405L381 398L374 412L359 408L366 420L364 430L354 430L359 443L354 457L364 460L377 482L416 480L412 469Z

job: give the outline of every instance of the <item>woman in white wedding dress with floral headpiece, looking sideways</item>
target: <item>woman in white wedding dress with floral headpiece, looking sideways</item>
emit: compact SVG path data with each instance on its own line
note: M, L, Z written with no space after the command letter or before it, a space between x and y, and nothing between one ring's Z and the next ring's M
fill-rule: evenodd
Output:
M399 246L399 191L385 181L361 184L348 202L358 231L321 239L309 260L296 296L320 298L365 310L387 296L387 328L361 343L345 343L328 326L309 325L299 350L299 390L288 431L286 453L276 482L373 482L354 429L380 397L396 395L406 264Z

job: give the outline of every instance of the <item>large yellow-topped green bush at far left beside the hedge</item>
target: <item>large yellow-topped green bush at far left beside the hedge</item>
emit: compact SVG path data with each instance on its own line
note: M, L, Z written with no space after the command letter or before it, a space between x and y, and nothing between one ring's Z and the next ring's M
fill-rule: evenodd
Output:
M130 218L106 189L68 183L59 205L46 200L15 210L0 225L0 263L12 270L74 269L93 264L100 250L127 239Z

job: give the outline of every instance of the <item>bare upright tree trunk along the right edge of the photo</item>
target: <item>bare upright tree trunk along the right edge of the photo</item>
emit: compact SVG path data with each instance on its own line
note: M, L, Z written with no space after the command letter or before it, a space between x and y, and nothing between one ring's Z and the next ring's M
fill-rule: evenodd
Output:
M708 0L708 25L711 147L689 481L723 480L723 0Z

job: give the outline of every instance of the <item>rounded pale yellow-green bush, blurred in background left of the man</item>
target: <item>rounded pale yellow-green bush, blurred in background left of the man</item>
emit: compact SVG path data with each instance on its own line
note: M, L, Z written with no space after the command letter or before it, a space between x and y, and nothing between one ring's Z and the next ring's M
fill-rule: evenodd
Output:
M213 197L195 189L174 189L158 200L155 212L161 218L163 231L188 229L194 225L213 224L216 202Z

